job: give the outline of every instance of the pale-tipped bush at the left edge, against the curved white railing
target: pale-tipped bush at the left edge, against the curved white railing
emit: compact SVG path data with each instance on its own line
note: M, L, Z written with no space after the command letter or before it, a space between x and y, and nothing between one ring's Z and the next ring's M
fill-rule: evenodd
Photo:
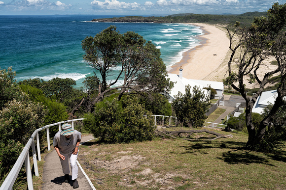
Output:
M0 111L1 178L16 162L33 132L42 126L45 113L46 110L39 103L15 99L6 103Z

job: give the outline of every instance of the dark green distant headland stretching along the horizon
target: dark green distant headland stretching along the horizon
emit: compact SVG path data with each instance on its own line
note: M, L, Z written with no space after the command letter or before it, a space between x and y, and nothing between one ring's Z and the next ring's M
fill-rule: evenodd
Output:
M126 16L106 19L93 19L92 22L112 23L207 23L207 24L231 24L239 21L248 25L254 17L265 16L266 12L247 12L240 15L211 15L211 14L176 14L165 17Z

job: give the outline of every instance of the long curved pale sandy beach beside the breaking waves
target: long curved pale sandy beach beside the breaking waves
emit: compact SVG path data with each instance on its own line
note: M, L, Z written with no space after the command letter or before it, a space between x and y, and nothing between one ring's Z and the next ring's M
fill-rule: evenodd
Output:
M207 24L192 25L203 29L204 34L198 36L201 45L183 53L183 58L172 65L168 73L179 74L179 68L182 67L184 78L220 81L210 79L208 76L220 67L229 50L226 30ZM225 74L225 69L220 75Z

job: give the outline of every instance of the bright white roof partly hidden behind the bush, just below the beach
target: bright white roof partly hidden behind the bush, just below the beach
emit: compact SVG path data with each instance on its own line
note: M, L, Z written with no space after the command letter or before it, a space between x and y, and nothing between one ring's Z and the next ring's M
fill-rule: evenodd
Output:
M186 85L190 85L191 86L191 90L193 89L194 86L197 86L199 87L200 89L202 89L204 91L204 94L208 94L208 90L206 89L203 89L204 86L197 83L197 82L194 82L194 81L190 81L186 78L182 78L180 79L178 75L176 74L172 74L172 73L168 73L168 77L167 78L170 78L170 81L173 81L174 82L174 87L171 89L169 95L175 99L174 96L177 96L179 91L184 95L186 93L185 91L185 86Z

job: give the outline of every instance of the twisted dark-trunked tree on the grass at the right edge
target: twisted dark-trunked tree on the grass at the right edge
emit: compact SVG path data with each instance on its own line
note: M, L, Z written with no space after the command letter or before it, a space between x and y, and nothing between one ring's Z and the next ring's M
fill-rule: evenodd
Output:
M233 33L227 28L232 54L228 62L228 77L224 80L224 84L239 91L246 100L246 125L249 133L247 147L254 148L263 139L267 126L286 96L286 4L274 3L268 10L267 16L255 18L250 27L239 25L237 22L237 28ZM259 79L257 71L261 70L263 60L270 55L275 57L278 67L265 73L263 78ZM236 67L238 71L233 72L233 67ZM276 73L281 74L277 99L256 131L251 120L253 105L263 92L269 77ZM245 88L247 76L250 83L257 81L259 84L257 93L252 97L247 96ZM235 82L238 84L235 85Z

